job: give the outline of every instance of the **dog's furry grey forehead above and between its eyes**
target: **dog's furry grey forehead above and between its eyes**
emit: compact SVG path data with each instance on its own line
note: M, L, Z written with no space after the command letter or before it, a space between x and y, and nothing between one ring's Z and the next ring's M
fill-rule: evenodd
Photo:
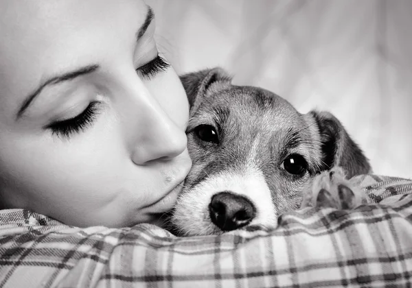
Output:
M310 123L288 101L262 88L230 86L206 95L190 128L202 124L216 125L222 147L242 150L245 156L259 147L275 157L285 149L311 157Z

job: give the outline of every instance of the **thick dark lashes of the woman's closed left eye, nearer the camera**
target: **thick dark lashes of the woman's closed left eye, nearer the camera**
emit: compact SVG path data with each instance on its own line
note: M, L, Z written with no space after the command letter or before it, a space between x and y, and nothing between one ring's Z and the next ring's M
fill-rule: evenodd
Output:
M76 117L52 123L47 128L51 129L52 134L56 134L56 136L69 138L71 134L84 131L89 125L93 124L99 112L99 104L100 102L93 101Z

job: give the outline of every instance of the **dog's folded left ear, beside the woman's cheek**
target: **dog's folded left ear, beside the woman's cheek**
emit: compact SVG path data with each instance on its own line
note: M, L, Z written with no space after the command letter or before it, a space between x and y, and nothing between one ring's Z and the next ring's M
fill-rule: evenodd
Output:
M216 82L230 84L232 80L231 76L220 67L187 73L179 77L185 88L191 112L198 108L211 84Z

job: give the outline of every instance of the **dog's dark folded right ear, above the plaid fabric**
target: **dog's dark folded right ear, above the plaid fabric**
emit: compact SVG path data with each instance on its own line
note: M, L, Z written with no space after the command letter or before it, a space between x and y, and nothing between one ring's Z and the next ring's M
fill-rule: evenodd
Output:
M347 178L371 173L369 161L361 148L350 138L341 122L330 112L310 111L319 129L323 154L322 170L342 167Z

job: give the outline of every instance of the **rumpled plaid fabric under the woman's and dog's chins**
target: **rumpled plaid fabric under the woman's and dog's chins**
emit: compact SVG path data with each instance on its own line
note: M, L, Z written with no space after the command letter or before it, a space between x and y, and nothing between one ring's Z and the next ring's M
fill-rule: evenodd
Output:
M306 208L275 230L209 237L0 211L0 287L411 287L412 181L352 181L373 204Z

